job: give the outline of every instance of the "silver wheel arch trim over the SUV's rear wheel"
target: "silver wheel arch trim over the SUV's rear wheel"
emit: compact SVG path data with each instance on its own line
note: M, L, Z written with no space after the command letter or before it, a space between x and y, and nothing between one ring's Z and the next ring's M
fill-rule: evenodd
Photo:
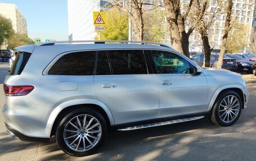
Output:
M85 100L71 100L65 103L58 105L56 108L53 109L50 117L48 118L46 133L49 137L54 135L56 131L56 126L60 123L61 118L66 116L70 111L77 108L82 107L89 107L96 109L98 112L102 114L102 116L106 119L107 125L112 126L115 125L115 121L113 119L111 111L108 107L100 102L99 100L95 99L85 99Z

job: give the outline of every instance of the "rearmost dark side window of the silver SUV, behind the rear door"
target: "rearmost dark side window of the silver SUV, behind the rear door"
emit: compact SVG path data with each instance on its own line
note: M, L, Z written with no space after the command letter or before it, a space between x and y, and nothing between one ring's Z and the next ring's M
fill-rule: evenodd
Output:
M95 52L76 52L62 56L48 75L93 75Z

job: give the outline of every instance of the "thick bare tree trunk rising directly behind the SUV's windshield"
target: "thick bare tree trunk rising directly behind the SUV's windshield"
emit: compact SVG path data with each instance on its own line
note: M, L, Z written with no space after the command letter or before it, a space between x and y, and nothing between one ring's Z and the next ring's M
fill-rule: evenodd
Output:
M167 24L170 31L172 48L180 53L184 53L181 45L181 36L177 22L177 12L179 12L179 10L177 10L178 3L177 1L173 0L164 0L164 6L166 9Z

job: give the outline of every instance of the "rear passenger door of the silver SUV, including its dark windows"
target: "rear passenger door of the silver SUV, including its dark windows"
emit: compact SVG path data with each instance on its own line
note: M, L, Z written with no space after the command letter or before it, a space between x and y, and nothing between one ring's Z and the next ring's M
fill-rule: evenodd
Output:
M94 86L116 125L158 116L159 88L143 50L99 50Z

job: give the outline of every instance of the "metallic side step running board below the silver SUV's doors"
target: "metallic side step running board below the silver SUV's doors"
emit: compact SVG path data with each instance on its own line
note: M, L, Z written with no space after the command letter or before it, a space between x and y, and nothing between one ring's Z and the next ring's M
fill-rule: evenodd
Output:
M201 118L204 118L204 116L182 118L182 119L174 119L174 120L171 120L171 121L149 123L149 124L145 124L145 125L126 127L126 128L118 129L118 131L129 131L129 130L137 130L137 129L140 129L140 128L148 128L148 127L154 127L154 126L170 125L170 124L173 124L173 123L193 121L193 120L201 119Z

